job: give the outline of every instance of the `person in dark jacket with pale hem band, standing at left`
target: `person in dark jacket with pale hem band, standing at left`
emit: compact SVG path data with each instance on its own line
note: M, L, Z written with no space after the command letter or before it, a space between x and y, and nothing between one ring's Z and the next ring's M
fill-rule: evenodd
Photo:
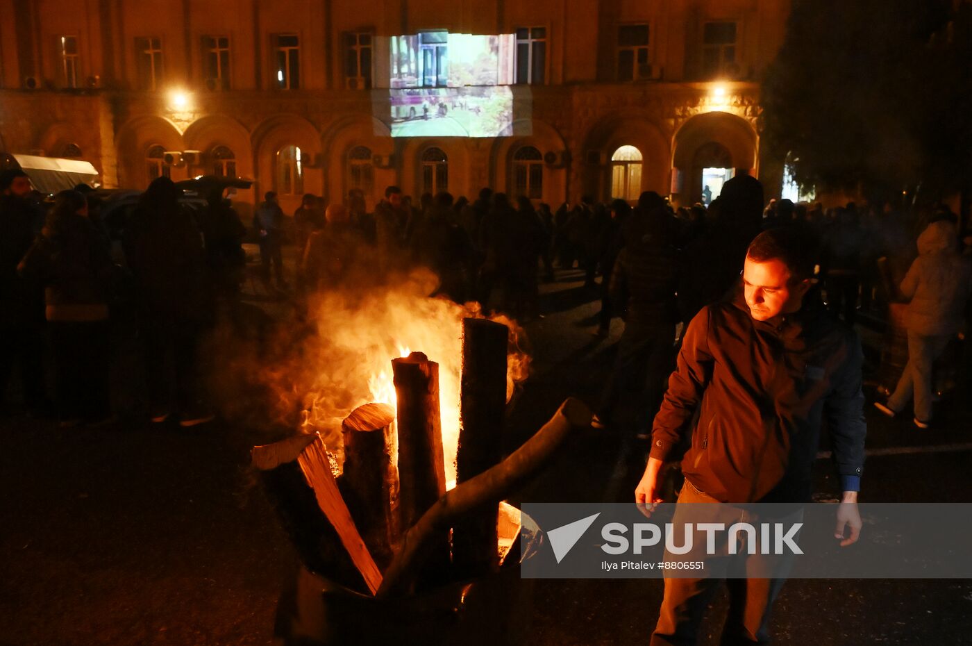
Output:
M63 427L113 420L109 399L108 299L114 264L77 191L54 197L47 224L17 267L45 286L45 314Z

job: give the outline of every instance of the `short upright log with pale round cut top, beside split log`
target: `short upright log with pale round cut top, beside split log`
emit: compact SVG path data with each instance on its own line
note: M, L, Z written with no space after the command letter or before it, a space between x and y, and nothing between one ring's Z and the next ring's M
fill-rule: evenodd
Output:
M395 409L365 404L341 424L344 473L338 485L364 544L380 565L388 565L399 540L399 473L392 463Z

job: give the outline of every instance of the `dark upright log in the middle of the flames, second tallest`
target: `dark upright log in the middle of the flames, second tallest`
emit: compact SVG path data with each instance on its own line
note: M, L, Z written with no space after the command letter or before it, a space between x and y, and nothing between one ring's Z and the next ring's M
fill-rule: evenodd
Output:
M402 527L411 527L445 493L438 364L421 352L392 360L399 400Z

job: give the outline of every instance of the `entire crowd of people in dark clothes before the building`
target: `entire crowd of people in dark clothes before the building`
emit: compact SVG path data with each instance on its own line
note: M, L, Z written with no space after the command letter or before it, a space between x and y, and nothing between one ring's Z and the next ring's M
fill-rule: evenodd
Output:
M278 294L293 294L298 302L363 275L381 280L421 266L438 276L437 296L528 320L540 315L542 280L552 280L555 268L580 270L591 297L601 301L594 334L605 337L612 318L625 320L596 424L619 424L642 437L675 367L677 331L738 285L746 247L761 231L792 229L806 240L817 261L808 302L848 324L860 312L880 316L899 298L913 298L914 308L925 310L925 323L913 317L910 325L923 335L909 340L910 380L902 377L883 410L900 412L914 391L921 422L931 416L927 364L957 332L970 282L961 278L967 261L959 255L955 216L945 208L915 216L889 205L849 203L827 211L787 199L767 205L761 184L748 175L727 181L708 205L680 208L646 192L634 206L582 197L554 211L488 188L471 201L443 192L413 204L390 186L373 212L364 195L352 191L330 204L306 195L290 216L269 192L249 232L222 188L193 209L170 180L158 178L120 228L121 260L110 253L109 233L87 187L78 189L40 203L31 198L24 173L0 177L0 386L6 391L17 373L27 408L50 410L44 361L37 359L50 336L54 408L64 424L113 418L106 357L120 302L136 312L151 417L176 414L187 425L212 417L199 378L205 354L199 345L217 304L238 303L248 236L259 243L267 287L275 281ZM918 238L916 246L928 225L931 233L922 235L934 233L934 241ZM295 269L284 263L290 243ZM948 249L945 265L924 260L929 246L935 258Z

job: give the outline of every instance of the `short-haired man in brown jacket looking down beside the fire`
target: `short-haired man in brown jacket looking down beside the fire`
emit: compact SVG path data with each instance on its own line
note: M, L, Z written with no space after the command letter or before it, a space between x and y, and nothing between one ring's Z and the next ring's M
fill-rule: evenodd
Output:
M760 233L746 252L742 294L707 305L692 319L635 490L646 513L661 502L659 471L697 408L691 448L682 459L685 484L676 523L684 509L680 503L809 501L820 423L826 418L844 490L835 537L841 545L857 540L866 432L862 354L851 330L813 298L815 263L809 248L792 228ZM845 538L848 525L851 535ZM782 583L729 582L723 644L767 642L770 607ZM715 578L667 578L651 644L695 644L719 584Z

